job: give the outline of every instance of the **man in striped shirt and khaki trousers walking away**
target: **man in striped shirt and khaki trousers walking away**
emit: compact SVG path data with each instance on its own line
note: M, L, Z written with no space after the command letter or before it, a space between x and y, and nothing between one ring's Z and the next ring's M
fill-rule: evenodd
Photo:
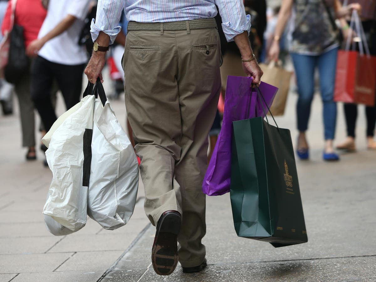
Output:
M141 158L145 212L156 226L152 264L171 274L206 266L205 195L208 133L221 88L220 41L214 17L218 5L228 41L235 40L247 75L260 70L241 0L99 0L91 33L94 52L85 74L91 82L105 64L122 9L130 20L124 50L125 101ZM177 247L177 241L179 247Z

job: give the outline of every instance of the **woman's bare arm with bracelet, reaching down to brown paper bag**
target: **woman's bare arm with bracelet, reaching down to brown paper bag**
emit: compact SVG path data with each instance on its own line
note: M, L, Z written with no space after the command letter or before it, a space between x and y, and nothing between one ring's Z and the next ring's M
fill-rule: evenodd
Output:
M293 0L282 0L282 6L278 14L276 29L274 30L274 38L271 43L268 58L277 61L279 56L279 40L284 33L287 21L290 18L293 8Z

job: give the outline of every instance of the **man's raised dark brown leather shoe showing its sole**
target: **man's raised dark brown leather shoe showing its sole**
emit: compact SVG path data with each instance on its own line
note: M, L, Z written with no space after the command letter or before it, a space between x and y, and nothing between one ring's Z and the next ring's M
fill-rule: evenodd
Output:
M177 211L166 211L159 218L152 249L152 264L159 275L174 272L177 256L177 235L182 225L182 217Z

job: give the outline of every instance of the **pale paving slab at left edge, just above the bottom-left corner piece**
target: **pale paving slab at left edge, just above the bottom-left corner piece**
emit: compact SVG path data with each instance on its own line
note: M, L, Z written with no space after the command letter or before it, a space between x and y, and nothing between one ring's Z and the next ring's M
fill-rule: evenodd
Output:
M0 255L0 273L52 272L73 254Z

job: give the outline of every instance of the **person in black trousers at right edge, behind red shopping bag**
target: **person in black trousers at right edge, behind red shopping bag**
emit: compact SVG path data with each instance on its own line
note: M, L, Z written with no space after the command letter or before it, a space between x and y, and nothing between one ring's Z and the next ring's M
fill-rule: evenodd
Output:
M376 0L359 0L356 2L362 5L360 15L362 26L367 37L370 53L376 56ZM358 105L345 103L344 112L346 117L347 138L343 143L337 146L337 149L353 152L356 149L355 127L358 117ZM367 120L367 149L375 150L376 141L374 140L374 131L376 124L376 102L375 106L365 106L365 117Z

